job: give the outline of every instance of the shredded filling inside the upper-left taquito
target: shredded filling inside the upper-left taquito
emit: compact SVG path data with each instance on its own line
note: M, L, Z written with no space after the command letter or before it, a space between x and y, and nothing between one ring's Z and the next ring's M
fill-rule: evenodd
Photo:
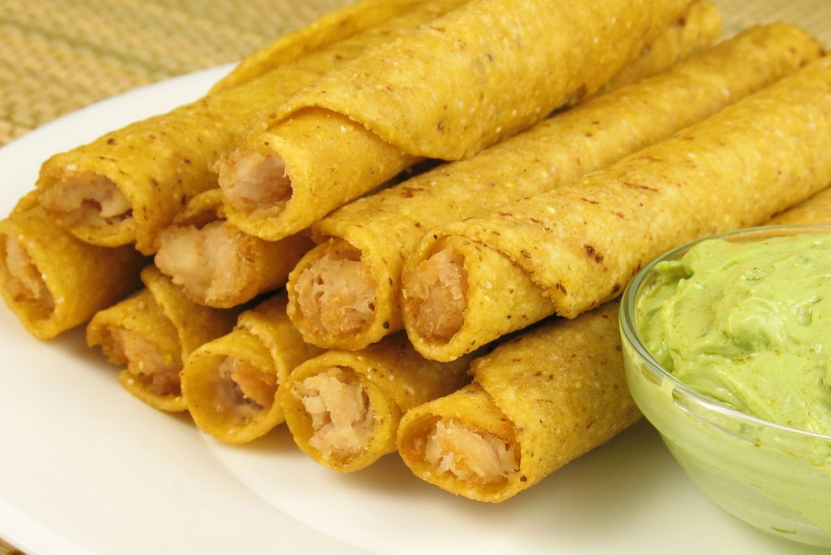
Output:
M61 181L45 189L40 202L67 225L106 227L132 215L130 201L103 175Z

